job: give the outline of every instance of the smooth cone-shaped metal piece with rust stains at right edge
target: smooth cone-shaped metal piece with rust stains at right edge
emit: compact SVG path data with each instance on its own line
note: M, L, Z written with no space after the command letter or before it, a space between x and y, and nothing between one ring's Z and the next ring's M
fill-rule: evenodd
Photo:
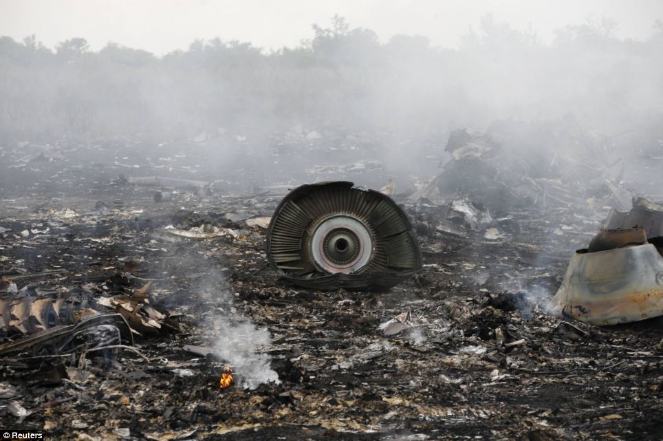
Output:
M553 301L563 314L594 325L663 315L663 257L654 244L578 250Z

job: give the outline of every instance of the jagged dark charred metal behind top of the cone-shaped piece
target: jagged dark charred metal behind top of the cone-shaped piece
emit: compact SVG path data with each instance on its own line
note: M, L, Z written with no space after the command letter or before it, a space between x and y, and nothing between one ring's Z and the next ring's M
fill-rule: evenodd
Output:
M644 228L647 237L663 236L663 204L644 197L633 197L630 211L611 210L603 222L603 228Z

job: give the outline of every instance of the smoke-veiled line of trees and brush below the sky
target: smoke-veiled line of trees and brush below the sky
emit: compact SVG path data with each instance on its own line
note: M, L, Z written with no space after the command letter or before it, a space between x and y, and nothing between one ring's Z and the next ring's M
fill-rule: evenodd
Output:
M602 131L660 123L663 24L647 41L616 39L616 23L558 30L552 45L492 17L457 50L423 36L313 26L295 48L197 40L162 57L83 38L44 47L0 37L0 142L68 136L155 140L202 131L310 129L401 136L486 127L495 118L576 114Z

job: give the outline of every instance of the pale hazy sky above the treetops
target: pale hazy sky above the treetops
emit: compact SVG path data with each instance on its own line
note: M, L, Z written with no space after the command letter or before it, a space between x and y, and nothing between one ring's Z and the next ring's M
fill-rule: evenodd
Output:
M663 19L663 0L0 0L0 35L36 34L49 47L81 36L93 50L114 41L160 55L217 36L278 49L312 38L313 23L327 26L338 14L381 41L420 34L456 47L459 35L491 12L513 28L531 27L543 41L588 17L614 19L622 38L646 39Z

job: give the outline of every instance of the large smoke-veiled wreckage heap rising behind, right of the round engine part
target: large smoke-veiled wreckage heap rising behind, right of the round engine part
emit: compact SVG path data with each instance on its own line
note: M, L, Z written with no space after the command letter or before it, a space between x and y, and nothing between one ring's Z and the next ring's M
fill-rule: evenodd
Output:
M571 207L591 202L625 208L624 164L615 148L583 130L574 118L550 122L497 120L484 133L453 131L444 170L412 197L468 195L491 210L528 206Z

